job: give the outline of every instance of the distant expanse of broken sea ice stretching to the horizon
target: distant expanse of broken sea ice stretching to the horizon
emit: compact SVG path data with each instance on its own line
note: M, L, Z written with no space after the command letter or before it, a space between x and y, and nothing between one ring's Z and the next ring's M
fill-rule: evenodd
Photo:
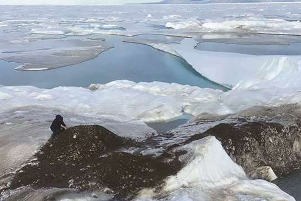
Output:
M15 39L23 41L30 34L133 36L153 33L196 36L200 32L230 31L299 35L301 29L298 3L258 4L256 7L252 4L125 5L111 6L109 9L98 6L88 13L83 12L85 7L48 6L43 8L47 17L37 17L37 7L2 7L11 11L0 16L0 28L4 30L1 36L5 41L12 33L19 36ZM103 29L102 26L107 24L116 27Z

